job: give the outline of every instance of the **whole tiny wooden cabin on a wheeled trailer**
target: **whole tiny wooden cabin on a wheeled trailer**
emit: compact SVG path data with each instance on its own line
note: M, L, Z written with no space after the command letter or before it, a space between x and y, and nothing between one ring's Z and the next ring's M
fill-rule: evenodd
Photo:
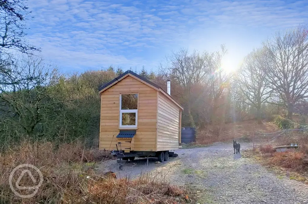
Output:
M169 90L168 94L130 70L101 86L99 149L122 150L130 160L135 156L162 160L178 149L183 107Z

